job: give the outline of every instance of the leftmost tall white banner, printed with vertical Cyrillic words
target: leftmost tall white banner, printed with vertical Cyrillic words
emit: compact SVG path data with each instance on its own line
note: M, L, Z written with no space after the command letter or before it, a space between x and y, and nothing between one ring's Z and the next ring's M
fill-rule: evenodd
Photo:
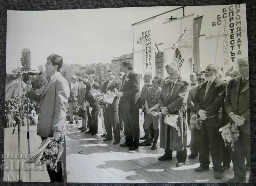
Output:
M155 18L133 25L133 66L140 75L140 88L145 72L156 76Z

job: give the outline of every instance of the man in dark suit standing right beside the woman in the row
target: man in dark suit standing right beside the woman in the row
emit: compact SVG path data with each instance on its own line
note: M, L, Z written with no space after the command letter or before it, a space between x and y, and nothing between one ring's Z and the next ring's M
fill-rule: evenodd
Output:
M90 134L92 136L96 135L98 133L98 107L99 103L98 101L94 100L92 94L89 92L91 89L98 90L100 88L99 84L95 82L95 75L91 74L89 76L89 85L86 86L86 91L84 95L84 99L87 101L87 107L90 106L92 108L92 123L89 123L89 131L85 132L86 134ZM87 88L88 87L88 88Z

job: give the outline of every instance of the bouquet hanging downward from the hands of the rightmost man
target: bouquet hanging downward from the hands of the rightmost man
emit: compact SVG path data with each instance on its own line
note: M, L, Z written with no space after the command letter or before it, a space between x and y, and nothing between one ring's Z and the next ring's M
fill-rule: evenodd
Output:
M224 129L224 130L222 130ZM219 131L222 130L221 136L224 139L225 146L229 146L232 148L232 151L234 151L234 144L238 140L239 137L239 130L237 128L236 123L233 124L226 124L224 127L221 127Z

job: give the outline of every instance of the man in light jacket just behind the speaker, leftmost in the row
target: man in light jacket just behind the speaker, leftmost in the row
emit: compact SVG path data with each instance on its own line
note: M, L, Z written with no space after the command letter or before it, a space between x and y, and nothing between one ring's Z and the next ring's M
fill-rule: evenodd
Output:
M77 96L78 96L78 87L79 84L77 83L77 77L76 75L73 75L72 82L69 84L70 89L70 96L69 96L69 103L68 103L68 109L69 109L69 124L73 124L74 118L73 118L73 109L77 106ZM78 124L78 115L75 115L76 124Z

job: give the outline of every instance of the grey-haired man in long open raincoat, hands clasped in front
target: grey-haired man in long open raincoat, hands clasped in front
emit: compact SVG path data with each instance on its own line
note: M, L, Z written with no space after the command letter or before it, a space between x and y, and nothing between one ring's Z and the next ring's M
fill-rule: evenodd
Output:
M181 167L187 159L187 98L188 82L181 79L180 69L170 67L169 81L162 88L158 103L164 117L167 114L179 115L176 128L161 121L160 126L160 147L165 149L164 155L159 157L159 161L172 160L172 151L177 151L176 167Z

